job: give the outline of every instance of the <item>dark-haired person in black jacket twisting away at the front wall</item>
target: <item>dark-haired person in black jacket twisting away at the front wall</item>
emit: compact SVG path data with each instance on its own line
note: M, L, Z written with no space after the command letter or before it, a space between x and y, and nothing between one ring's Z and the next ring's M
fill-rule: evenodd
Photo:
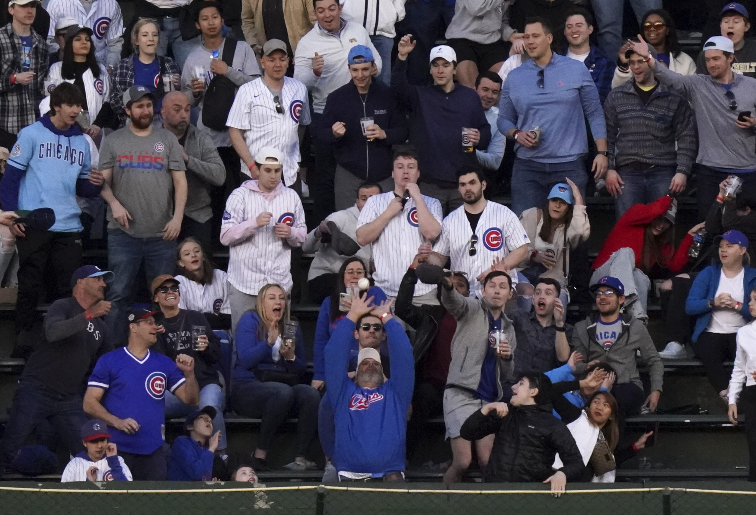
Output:
M544 374L522 377L509 404L491 402L465 420L460 436L466 440L496 435L486 482L547 482L561 495L568 480L581 478L583 458L567 426L551 413L551 390ZM564 466L554 471L557 453Z

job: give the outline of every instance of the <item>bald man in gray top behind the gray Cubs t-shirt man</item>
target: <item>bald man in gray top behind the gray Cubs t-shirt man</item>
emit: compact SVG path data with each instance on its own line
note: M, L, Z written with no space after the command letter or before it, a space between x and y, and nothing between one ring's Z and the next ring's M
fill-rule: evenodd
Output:
M195 237L204 252L210 253L213 239L218 240L218 233L212 231L210 195L215 189L213 187L224 184L225 166L208 132L189 123L191 104L186 95L181 92L168 93L163 97L160 114L163 115L163 129L178 138L181 156L187 167L187 205L178 239ZM214 232L215 238L212 237Z

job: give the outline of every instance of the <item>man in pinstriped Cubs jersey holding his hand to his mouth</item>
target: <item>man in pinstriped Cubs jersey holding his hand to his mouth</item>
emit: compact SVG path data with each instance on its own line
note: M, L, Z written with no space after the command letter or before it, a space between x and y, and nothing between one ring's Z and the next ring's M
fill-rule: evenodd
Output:
M373 279L386 296L395 297L417 248L432 243L441 234L441 203L420 194L417 157L400 152L394 159L394 191L367 199L357 219L357 242L373 244L376 272ZM415 286L414 303L435 304L435 284Z

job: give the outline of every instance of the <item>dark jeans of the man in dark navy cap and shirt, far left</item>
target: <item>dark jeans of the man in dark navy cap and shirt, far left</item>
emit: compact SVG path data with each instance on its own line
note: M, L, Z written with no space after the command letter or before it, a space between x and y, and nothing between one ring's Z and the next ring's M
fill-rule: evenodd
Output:
M54 392L33 377L20 380L13 396L8 423L0 439L0 475L14 460L26 438L45 420L57 431L71 455L82 451L84 445L80 434L87 420L82 404L82 396Z

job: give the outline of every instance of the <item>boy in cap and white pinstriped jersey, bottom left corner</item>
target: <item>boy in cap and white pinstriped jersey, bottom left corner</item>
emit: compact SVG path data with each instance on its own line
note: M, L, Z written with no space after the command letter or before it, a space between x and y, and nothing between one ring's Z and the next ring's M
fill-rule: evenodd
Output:
M108 442L110 433L102 420L88 420L82 426L79 451L66 465L60 482L73 481L132 481L132 471L118 455L116 444Z

